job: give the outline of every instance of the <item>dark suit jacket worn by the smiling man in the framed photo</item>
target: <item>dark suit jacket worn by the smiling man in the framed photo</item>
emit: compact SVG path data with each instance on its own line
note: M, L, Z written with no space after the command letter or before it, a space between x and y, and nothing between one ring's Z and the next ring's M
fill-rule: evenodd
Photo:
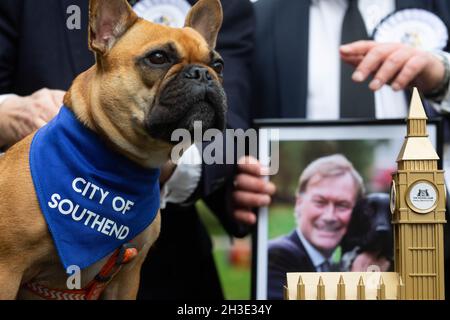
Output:
M308 256L297 232L269 241L268 246L267 298L283 299L283 286L287 272L315 272L316 268Z

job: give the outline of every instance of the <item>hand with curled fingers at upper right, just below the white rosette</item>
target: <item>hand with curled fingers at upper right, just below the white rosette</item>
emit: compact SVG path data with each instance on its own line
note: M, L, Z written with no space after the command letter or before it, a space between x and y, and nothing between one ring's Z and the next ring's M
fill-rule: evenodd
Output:
M390 84L395 91L416 86L426 94L438 88L445 76L445 66L438 57L401 43L356 41L341 46L340 55L355 66L354 81L374 76L369 84L373 91Z

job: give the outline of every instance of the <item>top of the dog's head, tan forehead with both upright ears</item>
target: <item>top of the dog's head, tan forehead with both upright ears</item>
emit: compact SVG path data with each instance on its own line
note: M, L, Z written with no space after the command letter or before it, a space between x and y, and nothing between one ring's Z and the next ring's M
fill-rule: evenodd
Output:
M99 72L110 70L112 65L126 65L126 58L142 55L142 50L169 40L184 57L201 61L202 55L216 47L222 21L219 0L198 0L183 29L140 19L126 0L90 0L89 48L95 53Z

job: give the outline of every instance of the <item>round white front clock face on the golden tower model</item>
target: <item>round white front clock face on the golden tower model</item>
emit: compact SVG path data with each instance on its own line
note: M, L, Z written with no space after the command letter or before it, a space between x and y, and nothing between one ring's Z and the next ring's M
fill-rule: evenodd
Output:
M420 180L409 187L406 192L406 203L415 212L428 213L437 206L438 191L434 184Z

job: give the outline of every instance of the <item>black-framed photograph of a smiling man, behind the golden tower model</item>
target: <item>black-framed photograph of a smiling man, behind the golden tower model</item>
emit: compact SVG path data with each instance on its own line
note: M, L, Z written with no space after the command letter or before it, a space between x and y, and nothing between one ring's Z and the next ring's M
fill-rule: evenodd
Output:
M258 120L256 127L259 160L277 193L259 210L253 236L253 298L282 299L286 272L368 271L367 257L392 270L389 192L406 122ZM439 119L428 122L428 134L442 168Z

